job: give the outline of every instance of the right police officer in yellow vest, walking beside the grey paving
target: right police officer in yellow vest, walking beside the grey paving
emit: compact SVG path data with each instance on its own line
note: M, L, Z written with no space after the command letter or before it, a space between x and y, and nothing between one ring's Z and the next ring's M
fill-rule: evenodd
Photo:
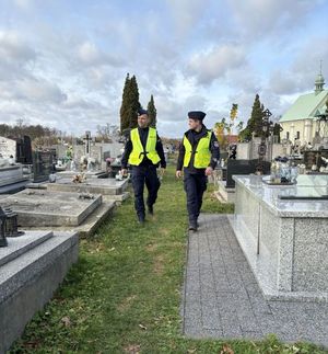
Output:
M202 124L206 113L188 113L189 127L179 147L176 176L183 175L187 194L189 230L197 231L202 195L207 190L208 175L211 175L220 160L220 148L215 135Z

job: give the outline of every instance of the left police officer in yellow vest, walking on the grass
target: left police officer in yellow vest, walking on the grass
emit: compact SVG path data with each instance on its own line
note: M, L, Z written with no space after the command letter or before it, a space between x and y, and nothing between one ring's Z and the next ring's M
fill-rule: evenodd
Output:
M144 184L148 189L148 212L153 215L157 198L160 180L156 168L161 163L162 172L166 168L162 141L155 128L149 126L147 110L138 111L138 127L131 129L121 159L121 173L126 174L128 163L131 165L132 186L134 191L134 207L140 224L144 224Z

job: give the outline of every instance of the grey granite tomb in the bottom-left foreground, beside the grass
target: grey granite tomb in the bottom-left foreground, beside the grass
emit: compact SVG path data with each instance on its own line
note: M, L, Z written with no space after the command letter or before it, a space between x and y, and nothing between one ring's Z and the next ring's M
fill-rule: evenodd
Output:
M26 232L0 250L0 353L24 331L52 297L78 260L74 232Z

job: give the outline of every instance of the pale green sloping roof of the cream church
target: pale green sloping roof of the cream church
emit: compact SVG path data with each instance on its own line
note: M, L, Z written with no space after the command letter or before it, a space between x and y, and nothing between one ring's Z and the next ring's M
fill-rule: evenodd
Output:
M290 122L300 119L314 119L317 111L325 106L328 98L328 90L321 92L302 94L296 102L283 114L279 122ZM325 106L326 109L326 106Z

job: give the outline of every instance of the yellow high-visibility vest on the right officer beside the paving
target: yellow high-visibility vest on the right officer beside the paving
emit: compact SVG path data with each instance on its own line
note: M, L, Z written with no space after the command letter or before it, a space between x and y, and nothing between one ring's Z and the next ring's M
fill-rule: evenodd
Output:
M208 132L207 136L202 137L197 144L194 159L194 167L196 169L206 169L211 162L211 135L212 133ZM192 147L186 135L183 142L185 147L184 167L187 168L191 159Z

